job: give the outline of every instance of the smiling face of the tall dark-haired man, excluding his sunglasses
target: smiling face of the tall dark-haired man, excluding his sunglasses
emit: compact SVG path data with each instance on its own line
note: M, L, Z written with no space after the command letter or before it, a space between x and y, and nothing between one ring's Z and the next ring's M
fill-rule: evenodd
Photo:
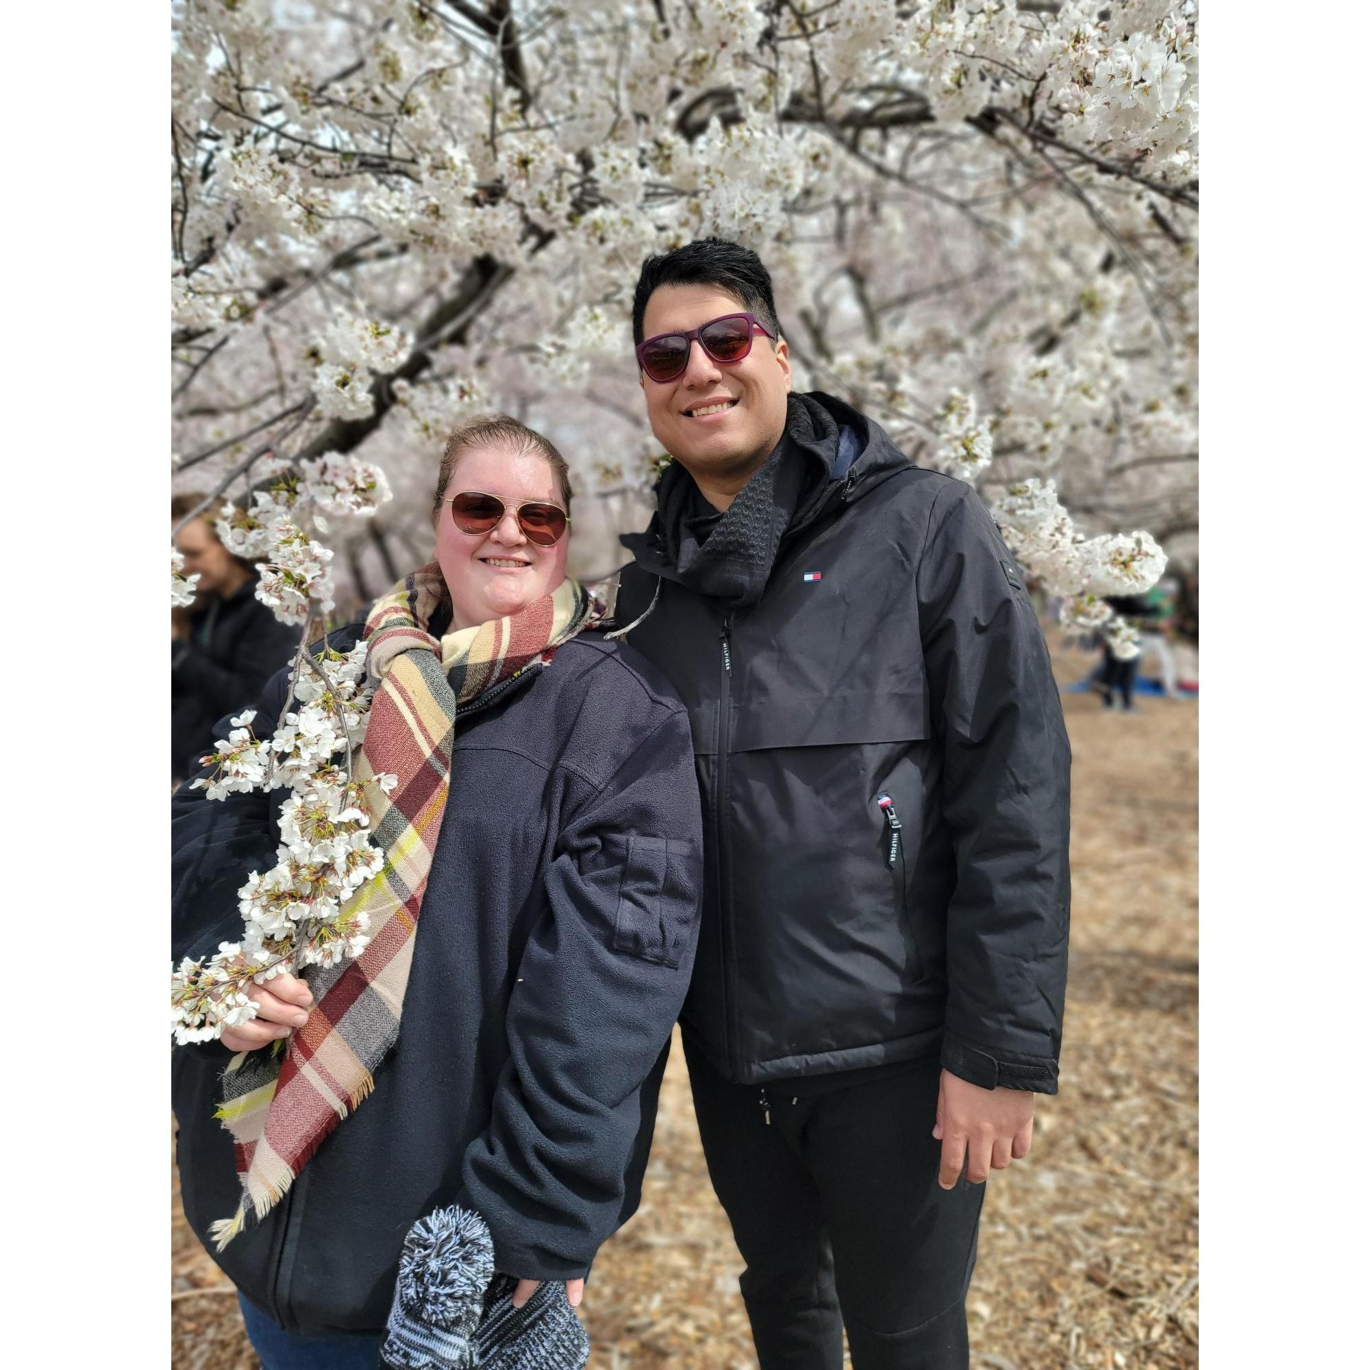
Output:
M743 308L712 285L663 285L652 292L643 315L643 337L697 329L721 314ZM689 362L674 381L641 375L647 416L656 440L690 475L749 475L785 432L789 395L789 348L754 333L741 362L715 362L690 340ZM697 410L727 407L700 415Z

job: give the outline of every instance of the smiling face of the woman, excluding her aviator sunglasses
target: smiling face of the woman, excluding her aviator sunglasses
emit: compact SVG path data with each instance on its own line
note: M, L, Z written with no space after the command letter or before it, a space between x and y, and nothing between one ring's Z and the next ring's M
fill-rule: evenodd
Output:
M480 490L504 501L504 516L489 533L463 533L452 522L451 500ZM529 500L566 508L556 473L540 456L506 447L474 448L458 459L437 515L437 562L452 596L452 627L504 618L551 595L566 580L567 530L552 547L530 543L518 526Z

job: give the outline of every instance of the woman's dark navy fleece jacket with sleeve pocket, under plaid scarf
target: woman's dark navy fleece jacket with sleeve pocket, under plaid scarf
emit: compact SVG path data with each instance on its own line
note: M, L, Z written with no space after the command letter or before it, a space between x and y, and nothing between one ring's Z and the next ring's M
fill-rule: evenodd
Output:
M284 693L282 673L264 719ZM478 1210L497 1267L540 1280L584 1275L637 1207L699 919L685 712L632 648L584 633L456 726L399 1043L281 1203L215 1255L288 1329L382 1329L404 1233L438 1206ZM234 892L274 864L284 795L177 793L177 958L241 936ZM212 1118L229 1055L173 1051L201 1240L240 1195Z

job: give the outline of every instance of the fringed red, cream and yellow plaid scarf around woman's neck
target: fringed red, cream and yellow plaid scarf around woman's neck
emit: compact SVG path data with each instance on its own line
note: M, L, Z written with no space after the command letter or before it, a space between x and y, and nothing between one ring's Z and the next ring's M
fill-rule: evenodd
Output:
M347 908L370 917L371 940L355 960L310 967L314 1006L284 1052L241 1052L223 1074L215 1117L233 1133L244 1193L237 1214L210 1228L219 1251L242 1230L249 1208L260 1219L290 1188L323 1138L371 1092L373 1071L395 1045L447 806L458 708L545 666L562 643L604 618L603 606L566 580L510 618L438 641L427 623L445 597L441 571L430 562L367 616L375 695L352 774L363 782L386 771L399 777L389 795L379 785L366 788L385 867Z

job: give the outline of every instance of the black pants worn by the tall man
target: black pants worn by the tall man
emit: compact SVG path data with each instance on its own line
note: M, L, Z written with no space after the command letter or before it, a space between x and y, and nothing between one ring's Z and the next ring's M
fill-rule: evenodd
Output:
M966 1370L984 1185L937 1185L936 1058L795 1097L729 1084L685 1044L714 1191L747 1262L762 1370Z

